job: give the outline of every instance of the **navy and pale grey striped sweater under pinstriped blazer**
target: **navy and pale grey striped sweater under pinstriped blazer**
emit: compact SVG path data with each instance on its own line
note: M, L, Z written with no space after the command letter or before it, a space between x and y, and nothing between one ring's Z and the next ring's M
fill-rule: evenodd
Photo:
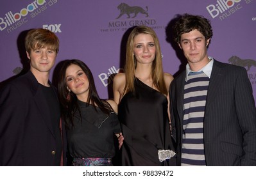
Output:
M209 77L194 72L187 77L184 89L182 166L205 166L203 120Z

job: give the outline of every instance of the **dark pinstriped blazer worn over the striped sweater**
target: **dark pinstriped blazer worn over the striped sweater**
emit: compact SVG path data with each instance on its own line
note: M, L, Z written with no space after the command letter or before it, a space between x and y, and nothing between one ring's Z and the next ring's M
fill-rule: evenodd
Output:
M172 135L181 159L185 71L170 86ZM256 166L256 109L245 68L214 59L203 124L207 166Z

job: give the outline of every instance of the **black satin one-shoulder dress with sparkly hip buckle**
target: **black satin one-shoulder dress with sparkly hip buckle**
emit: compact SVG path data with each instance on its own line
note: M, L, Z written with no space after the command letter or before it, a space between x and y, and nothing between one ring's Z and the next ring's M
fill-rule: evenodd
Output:
M135 92L122 98L118 117L124 136L122 166L176 166L173 157L164 162L158 150L173 150L165 95L135 79Z

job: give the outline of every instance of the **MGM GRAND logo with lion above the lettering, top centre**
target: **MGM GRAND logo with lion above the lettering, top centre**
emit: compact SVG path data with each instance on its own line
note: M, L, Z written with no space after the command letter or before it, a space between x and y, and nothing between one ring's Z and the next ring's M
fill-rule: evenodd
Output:
M126 27L132 26L154 26L157 22L155 19L149 18L148 6L129 6L126 3L121 3L117 6L119 11L115 20L108 22L108 27ZM117 20L118 19L118 20Z

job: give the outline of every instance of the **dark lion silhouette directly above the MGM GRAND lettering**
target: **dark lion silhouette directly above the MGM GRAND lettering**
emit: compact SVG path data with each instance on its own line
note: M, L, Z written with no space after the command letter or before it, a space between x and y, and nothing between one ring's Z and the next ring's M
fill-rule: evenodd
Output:
M121 3L117 6L117 9L120 10L120 14L116 19L119 19L122 15L126 14L128 15L128 18L130 18L130 14L134 13L133 17L136 17L138 13L146 14L146 17L148 17L148 6L146 6L146 10L139 6L128 6L126 3Z

